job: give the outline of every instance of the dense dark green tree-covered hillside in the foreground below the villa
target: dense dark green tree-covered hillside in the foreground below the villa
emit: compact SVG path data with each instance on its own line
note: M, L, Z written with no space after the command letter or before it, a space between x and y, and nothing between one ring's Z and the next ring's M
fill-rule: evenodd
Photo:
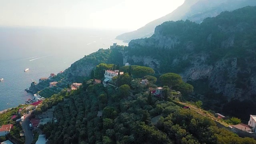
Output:
M216 127L210 118L149 92L134 97L121 92L129 88L127 84L105 88L88 82L66 94L69 100L59 103L54 111L57 122L40 126L48 143L256 144L252 138L240 138Z

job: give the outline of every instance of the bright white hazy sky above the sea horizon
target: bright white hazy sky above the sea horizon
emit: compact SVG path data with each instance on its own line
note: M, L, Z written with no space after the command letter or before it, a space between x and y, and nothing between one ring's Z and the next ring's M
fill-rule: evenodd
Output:
M184 0L0 0L2 26L136 30Z

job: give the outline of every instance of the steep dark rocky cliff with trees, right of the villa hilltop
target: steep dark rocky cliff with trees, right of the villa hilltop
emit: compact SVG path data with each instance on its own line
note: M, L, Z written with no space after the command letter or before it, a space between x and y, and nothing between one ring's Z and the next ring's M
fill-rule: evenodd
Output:
M132 40L122 53L124 63L142 63L159 73L176 72L184 81L198 85L195 92L202 92L206 101L216 104L252 100L256 96L254 12L256 7L246 7L201 24L165 22L150 38ZM212 92L202 90L205 86L199 81ZM221 100L214 95L221 95Z

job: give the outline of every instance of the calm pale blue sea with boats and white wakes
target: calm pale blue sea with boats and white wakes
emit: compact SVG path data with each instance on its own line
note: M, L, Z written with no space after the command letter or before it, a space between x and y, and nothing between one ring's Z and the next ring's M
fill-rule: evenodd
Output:
M32 81L66 70L72 63L113 43L121 30L0 27L0 111L25 104ZM24 72L25 68L29 68Z

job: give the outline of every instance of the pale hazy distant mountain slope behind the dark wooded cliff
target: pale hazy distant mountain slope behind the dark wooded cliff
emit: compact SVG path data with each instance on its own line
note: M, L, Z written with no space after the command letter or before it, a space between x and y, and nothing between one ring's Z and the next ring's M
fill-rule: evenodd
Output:
M150 37L154 34L154 28L166 21L188 19L200 23L204 18L214 17L220 12L235 10L244 6L256 6L256 0L185 0L184 4L170 14L158 18L138 30L121 34L116 39L130 42L133 39Z

